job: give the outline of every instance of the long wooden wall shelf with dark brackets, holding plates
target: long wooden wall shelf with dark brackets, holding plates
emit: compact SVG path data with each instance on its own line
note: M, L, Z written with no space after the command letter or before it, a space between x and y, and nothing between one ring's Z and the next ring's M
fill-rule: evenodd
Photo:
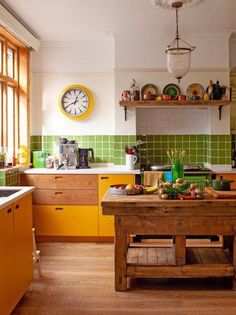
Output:
M219 110L219 120L221 120L223 106L229 105L228 100L212 100L212 101L156 101L156 100L142 100L142 101L120 101L120 106L124 107L125 121L127 120L127 109L129 108L209 108L217 106Z

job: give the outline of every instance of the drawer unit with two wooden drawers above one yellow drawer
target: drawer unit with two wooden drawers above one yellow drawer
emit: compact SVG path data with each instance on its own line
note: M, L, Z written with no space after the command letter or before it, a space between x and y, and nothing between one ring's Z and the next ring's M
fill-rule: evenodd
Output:
M33 185L33 225L37 236L98 236L96 174L25 174Z

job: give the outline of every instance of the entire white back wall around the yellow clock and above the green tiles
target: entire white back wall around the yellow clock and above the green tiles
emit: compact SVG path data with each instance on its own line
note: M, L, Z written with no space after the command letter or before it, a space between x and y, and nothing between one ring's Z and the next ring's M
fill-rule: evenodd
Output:
M185 94L192 83L206 88L211 79L229 86L229 33L181 35L197 47L193 52L191 71L181 80L182 93ZM160 94L166 84L176 83L165 68L164 51L172 37L171 33L161 38L116 36L114 41L42 43L40 50L33 53L32 60L31 134L126 135L136 134L140 129L142 133L148 133L145 124L136 124L135 110L129 110L128 120L124 120L119 99L122 91L129 89L133 78L140 87L155 84ZM94 111L84 121L70 120L59 111L58 96L71 84L85 85L94 94ZM189 122L194 120L195 133L230 132L229 110L223 108L221 121L217 108L213 108L207 118L201 116L201 111L195 111L194 117L193 113L181 109L178 115L184 117L182 123L175 124L171 118L171 128L175 132L191 133L193 125ZM139 122L140 114L137 115ZM173 111L166 110L165 116L172 117ZM153 117L145 114L147 126L150 119ZM177 126L180 124L182 129ZM157 127L154 131L161 133Z

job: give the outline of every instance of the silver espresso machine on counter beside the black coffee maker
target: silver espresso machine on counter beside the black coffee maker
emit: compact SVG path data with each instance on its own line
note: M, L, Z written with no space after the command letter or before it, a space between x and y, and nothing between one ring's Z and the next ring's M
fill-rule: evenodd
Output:
M75 141L73 143L59 144L59 166L57 169L76 169L77 147L78 145Z

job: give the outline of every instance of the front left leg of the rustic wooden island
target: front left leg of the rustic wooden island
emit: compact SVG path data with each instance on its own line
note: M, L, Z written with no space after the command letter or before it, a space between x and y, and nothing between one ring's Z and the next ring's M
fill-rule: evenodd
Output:
M115 289L127 290L127 235L124 231L124 216L115 216Z

